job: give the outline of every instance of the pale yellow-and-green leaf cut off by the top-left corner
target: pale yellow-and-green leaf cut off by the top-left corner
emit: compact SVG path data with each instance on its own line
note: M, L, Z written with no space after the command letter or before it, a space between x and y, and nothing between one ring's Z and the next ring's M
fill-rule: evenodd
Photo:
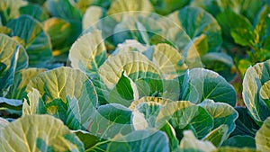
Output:
M11 19L19 17L19 8L26 5L27 2L23 0L1 0L0 2L0 18L1 22L5 25Z

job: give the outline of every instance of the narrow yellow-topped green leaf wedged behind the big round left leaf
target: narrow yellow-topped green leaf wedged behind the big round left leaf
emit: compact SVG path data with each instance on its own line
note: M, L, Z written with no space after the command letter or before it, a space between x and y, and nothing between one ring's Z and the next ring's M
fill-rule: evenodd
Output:
M45 70L46 69L44 68L27 68L16 72L14 76L14 84L11 85L6 97L10 99L23 99L23 93L26 85L28 85L31 78Z

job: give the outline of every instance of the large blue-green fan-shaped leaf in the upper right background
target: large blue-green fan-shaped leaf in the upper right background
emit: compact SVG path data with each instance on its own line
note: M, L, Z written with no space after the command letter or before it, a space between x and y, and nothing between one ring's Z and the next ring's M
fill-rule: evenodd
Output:
M209 51L219 49L222 42L221 29L219 23L210 13L198 7L187 6L180 11L169 14L168 17L182 27L191 39L204 34Z

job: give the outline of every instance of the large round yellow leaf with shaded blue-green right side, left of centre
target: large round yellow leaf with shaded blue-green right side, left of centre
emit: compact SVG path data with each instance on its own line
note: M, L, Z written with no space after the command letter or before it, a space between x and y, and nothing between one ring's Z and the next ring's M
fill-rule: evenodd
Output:
M33 101L29 96L35 94L32 88L40 94L39 97L35 95ZM86 130L94 119L97 106L94 85L80 70L60 67L42 72L31 79L26 92L29 97L26 107L32 113L45 111L64 121L71 129Z

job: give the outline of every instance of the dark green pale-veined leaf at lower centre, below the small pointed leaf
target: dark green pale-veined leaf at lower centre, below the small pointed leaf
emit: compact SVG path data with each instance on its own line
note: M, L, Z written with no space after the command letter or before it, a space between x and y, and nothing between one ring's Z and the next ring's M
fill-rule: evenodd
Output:
M132 131L130 118L130 109L121 104L102 105L98 108L88 130L101 139L112 139L119 133L125 135Z

